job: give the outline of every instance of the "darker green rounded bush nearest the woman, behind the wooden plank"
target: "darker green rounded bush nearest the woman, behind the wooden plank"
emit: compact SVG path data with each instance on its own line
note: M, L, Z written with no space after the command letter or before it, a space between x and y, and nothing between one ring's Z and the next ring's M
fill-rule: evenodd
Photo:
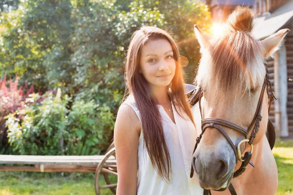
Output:
M114 116L105 104L75 101L68 115L67 155L95 155L109 145Z

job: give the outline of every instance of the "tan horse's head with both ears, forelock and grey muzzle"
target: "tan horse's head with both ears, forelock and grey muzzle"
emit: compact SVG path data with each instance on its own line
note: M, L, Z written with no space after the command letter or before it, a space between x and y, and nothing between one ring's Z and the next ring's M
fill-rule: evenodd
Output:
M201 46L202 58L195 83L203 90L201 99L202 115L228 121L248 130L259 99L262 116L259 132L253 144L264 137L268 122L268 96L263 93L266 76L264 60L278 49L288 29L280 30L274 35L256 40L251 35L253 14L249 8L237 7L223 24L223 32L210 36L195 26L195 34ZM193 154L192 165L199 176L200 185L205 189L224 190L241 163L232 146L237 146L247 137L235 129L217 123L205 129L199 145ZM229 140L220 131L222 129ZM250 131L248 137L250 137ZM248 144L240 149L250 151ZM236 157L235 157L236 156Z

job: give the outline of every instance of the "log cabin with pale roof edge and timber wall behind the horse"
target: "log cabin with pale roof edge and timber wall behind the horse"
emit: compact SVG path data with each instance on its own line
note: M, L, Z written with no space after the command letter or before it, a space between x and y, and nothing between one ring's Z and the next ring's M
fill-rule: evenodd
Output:
M288 28L284 43L267 60L273 91L278 98L271 107L276 136L293 139L293 0L253 0L257 15L253 34L265 39L274 32Z

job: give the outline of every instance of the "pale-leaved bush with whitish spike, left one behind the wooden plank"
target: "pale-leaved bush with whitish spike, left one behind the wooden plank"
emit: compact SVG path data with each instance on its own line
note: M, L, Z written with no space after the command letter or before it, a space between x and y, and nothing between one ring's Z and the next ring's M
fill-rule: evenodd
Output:
M20 155L61 155L62 138L65 129L66 105L70 98L61 98L61 90L31 94L22 109L10 113L6 118L8 141L14 154Z

